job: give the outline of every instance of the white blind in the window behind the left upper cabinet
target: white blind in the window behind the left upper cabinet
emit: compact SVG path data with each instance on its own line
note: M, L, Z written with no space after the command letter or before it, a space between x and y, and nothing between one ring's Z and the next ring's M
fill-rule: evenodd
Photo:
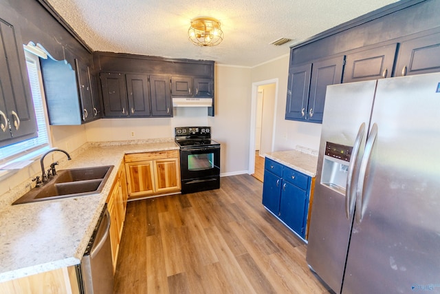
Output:
M36 114L36 123L38 125L38 136L30 140L9 145L0 148L0 165L7 162L17 161L33 154L39 149L47 149L49 146L49 136L47 134L47 124L45 118L45 109L43 104L42 89L40 86L40 63L38 56L25 52L26 65L28 67L28 76L30 88L32 92L32 100L34 101L34 109Z

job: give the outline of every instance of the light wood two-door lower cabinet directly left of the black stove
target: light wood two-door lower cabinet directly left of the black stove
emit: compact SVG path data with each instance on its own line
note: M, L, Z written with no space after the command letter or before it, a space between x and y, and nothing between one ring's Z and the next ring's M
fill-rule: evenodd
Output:
M125 155L130 198L180 191L179 150Z

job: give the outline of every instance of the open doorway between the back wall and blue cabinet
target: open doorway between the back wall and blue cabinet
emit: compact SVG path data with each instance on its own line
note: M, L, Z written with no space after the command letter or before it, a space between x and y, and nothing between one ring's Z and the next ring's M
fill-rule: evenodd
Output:
M263 182L264 158L273 151L278 79L252 84L249 174Z

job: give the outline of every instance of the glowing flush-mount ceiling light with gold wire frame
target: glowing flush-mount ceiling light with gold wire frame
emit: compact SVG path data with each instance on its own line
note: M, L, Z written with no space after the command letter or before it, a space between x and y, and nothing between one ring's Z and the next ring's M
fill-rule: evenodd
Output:
M196 17L191 20L188 38L197 46L216 46L223 41L220 21L213 17Z

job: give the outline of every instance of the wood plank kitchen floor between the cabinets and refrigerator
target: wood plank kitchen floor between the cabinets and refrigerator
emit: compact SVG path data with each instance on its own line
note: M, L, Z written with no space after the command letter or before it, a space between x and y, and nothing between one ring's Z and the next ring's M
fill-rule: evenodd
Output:
M217 190L129 202L115 293L331 293L262 187L229 176Z

